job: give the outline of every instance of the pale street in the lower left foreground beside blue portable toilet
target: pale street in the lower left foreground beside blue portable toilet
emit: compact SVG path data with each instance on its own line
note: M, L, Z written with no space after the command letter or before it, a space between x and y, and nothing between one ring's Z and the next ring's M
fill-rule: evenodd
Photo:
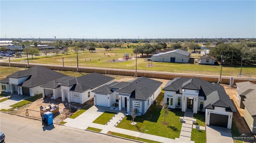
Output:
M39 120L0 112L0 131L6 143L135 143L63 125L42 126Z

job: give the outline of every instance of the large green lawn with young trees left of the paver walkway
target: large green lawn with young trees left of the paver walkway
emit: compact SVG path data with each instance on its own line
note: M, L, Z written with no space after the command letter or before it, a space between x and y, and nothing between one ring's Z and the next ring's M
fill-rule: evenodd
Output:
M163 97L164 94L161 93L156 99L158 100L158 105ZM134 119L137 125L131 125L132 117L126 116L117 127L175 139L180 136L182 126L179 119L180 116L183 117L184 112L181 112L180 110L170 110L166 117L166 123L164 123L162 107L151 105L146 114L137 116Z

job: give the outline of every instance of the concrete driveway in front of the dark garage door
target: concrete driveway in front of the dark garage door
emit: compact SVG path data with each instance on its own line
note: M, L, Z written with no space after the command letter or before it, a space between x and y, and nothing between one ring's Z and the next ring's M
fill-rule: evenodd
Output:
M234 143L231 130L206 125L206 143Z

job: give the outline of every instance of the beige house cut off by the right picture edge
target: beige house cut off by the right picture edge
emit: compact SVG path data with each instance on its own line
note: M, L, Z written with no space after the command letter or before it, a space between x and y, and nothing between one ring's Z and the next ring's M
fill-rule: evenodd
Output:
M256 84L246 81L236 85L238 106L244 108L244 119L252 133L256 133Z

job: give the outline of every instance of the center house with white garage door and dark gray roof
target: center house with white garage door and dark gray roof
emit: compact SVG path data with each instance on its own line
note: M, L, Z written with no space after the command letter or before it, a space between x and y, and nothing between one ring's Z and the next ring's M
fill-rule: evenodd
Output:
M130 112L130 109L137 108L140 114L145 114L160 94L161 85L162 82L146 77L136 78L130 82L113 82L92 90L94 105L110 108L115 104L114 110L125 108Z

